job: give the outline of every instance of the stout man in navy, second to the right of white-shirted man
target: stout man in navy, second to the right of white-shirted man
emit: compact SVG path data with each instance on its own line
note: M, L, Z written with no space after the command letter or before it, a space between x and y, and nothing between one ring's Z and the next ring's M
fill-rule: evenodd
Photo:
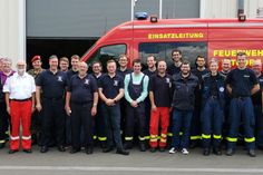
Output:
M79 74L70 79L66 97L66 111L71 118L72 149L80 150L80 134L84 129L84 145L87 154L92 154L92 117L97 114L98 87L95 78L87 74L86 62L79 62Z

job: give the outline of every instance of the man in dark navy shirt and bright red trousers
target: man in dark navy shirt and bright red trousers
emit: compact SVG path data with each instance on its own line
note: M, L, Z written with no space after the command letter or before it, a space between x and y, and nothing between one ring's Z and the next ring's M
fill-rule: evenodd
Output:
M169 108L172 105L172 76L166 74L167 65L164 60L157 64L157 74L149 79L149 100L150 100L150 124L149 124L149 145L150 152L155 152L159 145L159 150L164 152L167 143L167 128L169 126ZM158 128L160 120L160 140L158 144Z

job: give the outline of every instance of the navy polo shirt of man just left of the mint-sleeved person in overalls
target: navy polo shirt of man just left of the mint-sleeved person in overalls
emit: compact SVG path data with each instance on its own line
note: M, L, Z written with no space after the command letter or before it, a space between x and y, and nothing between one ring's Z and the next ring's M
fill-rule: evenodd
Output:
M113 99L119 94L119 89L124 89L124 78L117 74L111 78L106 74L99 78L98 87L103 88L106 98Z

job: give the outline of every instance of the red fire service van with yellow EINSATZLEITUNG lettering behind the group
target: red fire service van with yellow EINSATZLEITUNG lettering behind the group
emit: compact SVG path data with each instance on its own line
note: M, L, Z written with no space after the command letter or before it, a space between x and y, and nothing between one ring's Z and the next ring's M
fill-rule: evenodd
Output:
M84 56L91 64L99 60L105 66L109 59L126 54L130 59L146 62L155 55L172 62L171 52L179 49L183 59L194 64L196 56L208 59L232 58L245 51L249 66L263 58L263 19L157 19L149 17L121 23L103 36Z

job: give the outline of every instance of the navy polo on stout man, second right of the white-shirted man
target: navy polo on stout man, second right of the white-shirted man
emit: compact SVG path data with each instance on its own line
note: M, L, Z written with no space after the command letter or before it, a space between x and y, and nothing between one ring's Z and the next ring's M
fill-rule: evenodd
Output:
M94 100L94 93L98 91L98 86L91 75L84 78L75 75L69 81L68 91L71 93L71 103L85 104Z

